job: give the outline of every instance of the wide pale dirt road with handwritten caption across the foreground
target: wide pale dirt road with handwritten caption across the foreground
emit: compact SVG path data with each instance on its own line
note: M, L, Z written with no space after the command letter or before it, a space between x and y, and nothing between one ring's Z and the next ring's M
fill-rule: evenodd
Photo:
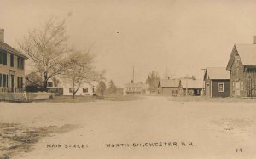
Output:
M42 135L14 158L256 158L255 103L0 103L0 122L59 132L74 126Z

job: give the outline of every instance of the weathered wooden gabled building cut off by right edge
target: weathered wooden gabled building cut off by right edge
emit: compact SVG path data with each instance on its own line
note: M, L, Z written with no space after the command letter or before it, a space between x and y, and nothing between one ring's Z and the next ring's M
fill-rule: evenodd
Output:
M256 36L253 44L235 44L226 67L230 96L256 97Z

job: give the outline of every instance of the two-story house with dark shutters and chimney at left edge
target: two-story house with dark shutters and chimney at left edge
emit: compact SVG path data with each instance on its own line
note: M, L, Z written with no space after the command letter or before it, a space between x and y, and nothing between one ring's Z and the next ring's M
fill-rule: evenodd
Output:
M4 43L4 30L0 29L0 92L23 91L26 59L24 54Z

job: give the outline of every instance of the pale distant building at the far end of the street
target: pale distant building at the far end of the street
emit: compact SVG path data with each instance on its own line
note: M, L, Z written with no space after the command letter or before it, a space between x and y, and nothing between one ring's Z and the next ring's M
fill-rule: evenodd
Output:
M133 81L125 83L124 95L127 94L146 94L148 85L143 82L134 83Z

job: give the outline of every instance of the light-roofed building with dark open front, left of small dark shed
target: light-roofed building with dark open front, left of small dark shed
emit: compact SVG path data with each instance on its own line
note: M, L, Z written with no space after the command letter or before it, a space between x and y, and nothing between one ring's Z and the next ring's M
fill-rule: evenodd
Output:
M182 95L201 95L203 88L203 80L196 77L181 78Z

